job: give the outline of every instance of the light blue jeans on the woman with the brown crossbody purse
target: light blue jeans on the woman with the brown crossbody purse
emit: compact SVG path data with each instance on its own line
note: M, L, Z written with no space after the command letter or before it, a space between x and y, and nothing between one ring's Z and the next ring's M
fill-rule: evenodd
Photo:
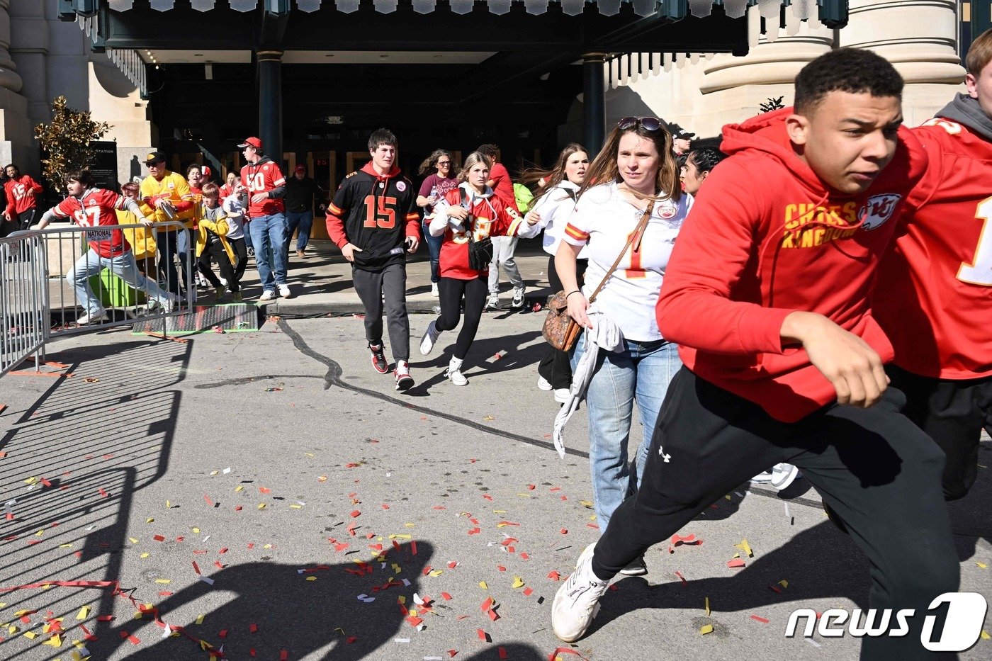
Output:
M585 350L585 337L582 333L575 346L572 369ZM613 511L637 490L641 482L658 412L665 401L669 382L682 367L679 347L672 342L625 339L624 345L625 348L616 353L599 349L596 371L585 392L585 406L589 411L592 497L600 532L606 530ZM637 474L632 477L627 461L627 442L635 400L643 435L634 456Z

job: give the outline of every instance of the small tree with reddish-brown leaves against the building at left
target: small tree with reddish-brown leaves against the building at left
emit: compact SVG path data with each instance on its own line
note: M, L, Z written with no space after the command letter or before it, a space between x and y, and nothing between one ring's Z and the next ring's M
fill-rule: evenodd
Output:
M68 106L64 96L52 101L52 123L35 127L35 139L42 145L42 175L53 189L65 195L65 175L92 165L89 146L113 128L106 122L94 122L90 113Z

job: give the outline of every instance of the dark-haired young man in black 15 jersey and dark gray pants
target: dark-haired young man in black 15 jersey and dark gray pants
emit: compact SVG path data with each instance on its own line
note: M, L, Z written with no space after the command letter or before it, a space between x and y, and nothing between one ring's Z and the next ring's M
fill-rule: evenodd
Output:
M414 385L410 375L407 256L420 243L420 214L413 184L396 166L397 140L379 129L369 137L372 161L348 175L327 207L327 234L351 262L355 292L365 306L365 336L372 367L389 371L382 346L383 295L396 389Z

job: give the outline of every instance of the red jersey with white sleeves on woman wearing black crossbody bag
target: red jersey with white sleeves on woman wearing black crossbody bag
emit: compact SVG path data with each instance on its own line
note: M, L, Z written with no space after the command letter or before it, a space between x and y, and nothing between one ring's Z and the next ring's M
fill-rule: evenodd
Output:
M467 185L462 185L467 187ZM461 204L462 187L444 194L443 200L451 206ZM503 200L496 197L492 191L488 195L472 196L470 190L465 205L474 217L472 222L472 235L476 241L481 241L487 236L513 236L517 233L524 218L519 214L513 214L507 210ZM437 211L438 206L434 206ZM457 280L474 280L479 276L489 273L486 268L483 271L476 271L468 267L468 232L464 229L457 232L450 227L444 229L444 242L440 245L440 271L442 278L455 278Z

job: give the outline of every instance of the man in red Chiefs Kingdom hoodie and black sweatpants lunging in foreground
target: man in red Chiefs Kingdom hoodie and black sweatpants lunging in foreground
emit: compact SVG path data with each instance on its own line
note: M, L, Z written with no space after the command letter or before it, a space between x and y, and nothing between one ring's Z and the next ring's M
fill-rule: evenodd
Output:
M803 470L873 567L871 608L912 608L910 633L865 637L862 658L928 654L930 601L957 590L943 454L887 388L892 345L870 315L878 262L927 166L901 128L903 80L840 49L796 78L796 106L724 127L730 154L682 227L658 325L684 367L639 491L558 591L577 640L610 579L710 503L775 463ZM893 618L893 627L896 620Z

